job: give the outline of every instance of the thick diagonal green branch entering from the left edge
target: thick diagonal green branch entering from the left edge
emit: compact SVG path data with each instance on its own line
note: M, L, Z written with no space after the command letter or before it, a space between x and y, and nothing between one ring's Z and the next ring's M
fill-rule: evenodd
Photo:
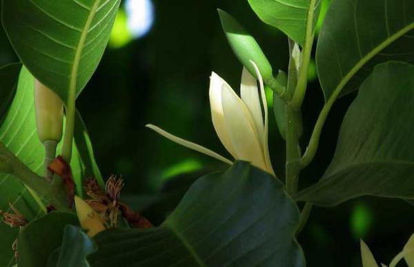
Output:
M58 210L68 210L64 187L61 184L54 186L44 177L32 172L2 143L0 143L0 172L14 176Z

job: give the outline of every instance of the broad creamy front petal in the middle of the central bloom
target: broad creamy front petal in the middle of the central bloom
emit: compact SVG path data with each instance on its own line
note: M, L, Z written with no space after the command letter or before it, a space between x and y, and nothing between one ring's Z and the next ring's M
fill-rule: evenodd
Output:
M239 99L233 89L224 85L221 90L221 100L228 135L237 154L236 159L249 161L267 170L262 147L254 130L253 119L242 99Z

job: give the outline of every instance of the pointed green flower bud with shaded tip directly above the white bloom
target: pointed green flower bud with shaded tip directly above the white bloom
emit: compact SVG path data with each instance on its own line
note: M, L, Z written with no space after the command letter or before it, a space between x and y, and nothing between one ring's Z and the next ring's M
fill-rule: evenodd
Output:
M250 61L255 62L262 74L264 82L272 88L277 95L282 95L284 88L282 88L275 77L273 77L272 66L270 66L268 59L255 38L248 34L239 22L226 11L219 9L218 12L221 26L226 34L228 43L230 43L230 47L239 61L248 69L251 75L258 79L255 69Z

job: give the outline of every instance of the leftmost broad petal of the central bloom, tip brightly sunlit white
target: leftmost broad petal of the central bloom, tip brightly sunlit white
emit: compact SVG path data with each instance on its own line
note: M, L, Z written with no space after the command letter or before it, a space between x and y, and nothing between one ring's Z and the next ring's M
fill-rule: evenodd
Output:
M223 108L221 105L221 88L224 84L228 86L226 81L224 81L224 79L221 79L219 75L217 75L215 72L211 73L210 90L208 93L210 96L211 120L213 121L213 126L215 128L217 136L221 141L221 144L224 145L230 155L236 158L237 155L235 153L233 145L231 144L230 137L228 136L228 129L226 122L224 121Z

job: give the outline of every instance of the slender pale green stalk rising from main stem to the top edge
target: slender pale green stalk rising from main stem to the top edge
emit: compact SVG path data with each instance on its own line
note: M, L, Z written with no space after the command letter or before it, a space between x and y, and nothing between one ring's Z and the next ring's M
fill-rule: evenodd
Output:
M309 61L311 61L311 52L314 39L313 37L315 34L315 30L313 29L313 14L315 12L315 4L316 0L311 0L309 2L308 18L306 19L305 45L302 50L302 64L299 71L299 79L297 81L295 94L293 95L292 99L292 106L294 108L300 108L300 106L302 106L302 102L304 101L306 93Z

